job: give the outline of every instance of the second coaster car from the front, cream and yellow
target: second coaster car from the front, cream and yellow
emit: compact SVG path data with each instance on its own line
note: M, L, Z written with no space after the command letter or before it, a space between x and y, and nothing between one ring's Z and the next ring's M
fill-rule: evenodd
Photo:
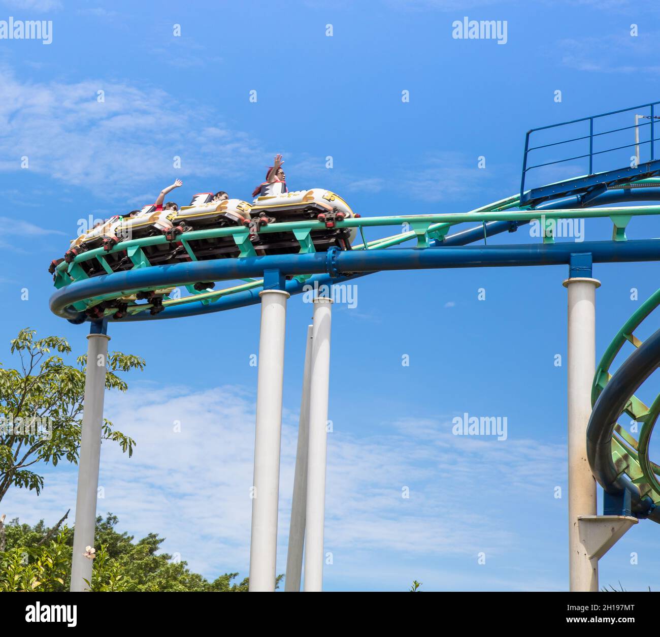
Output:
M183 206L172 218L172 230L166 233L168 241L191 230L208 230L209 228L228 228L249 224L251 205L242 199L225 199L211 201L213 193L197 193L189 206ZM195 239L188 241L190 249L199 261L207 259L235 258L240 250L232 236Z

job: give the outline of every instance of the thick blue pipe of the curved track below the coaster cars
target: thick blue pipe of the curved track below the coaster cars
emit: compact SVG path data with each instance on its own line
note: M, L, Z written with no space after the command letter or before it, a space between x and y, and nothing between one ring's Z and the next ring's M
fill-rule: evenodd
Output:
M188 285L198 281L228 281L260 277L267 269L279 270L284 275L347 276L381 270L562 265L570 263L571 255L574 253L591 253L594 263L660 261L660 239L583 242L580 244L571 242L523 246L465 246L462 248L388 248L387 250L349 251L335 249L329 250L327 253L189 261L117 272L72 283L57 290L51 296L50 308L58 316L76 320L80 318L80 313L75 310L67 310L67 308L85 298L135 289ZM296 282L289 283L293 292L299 291ZM302 286L300 289L302 290ZM248 301L247 304L254 301L254 294L258 294L256 290L248 292L249 294L240 293L248 294L243 297ZM176 312L176 314L172 310L166 309L156 316L174 318L174 316L192 316L238 307L236 304L225 305L222 301L221 299L204 308L197 308L197 310L187 308L187 312ZM172 313L170 314L170 312ZM121 320L135 319L135 316L127 316Z

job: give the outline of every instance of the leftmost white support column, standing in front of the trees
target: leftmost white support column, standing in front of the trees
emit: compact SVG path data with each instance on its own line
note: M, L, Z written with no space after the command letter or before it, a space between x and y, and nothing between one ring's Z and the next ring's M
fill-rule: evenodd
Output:
M86 558L84 553L86 547L94 546L96 530L96 495L101 456L108 341L110 337L106 334L92 333L87 337L87 368L84 380L76 520L71 561L71 591L74 592L88 591L89 587L84 580L92 581L92 560Z

